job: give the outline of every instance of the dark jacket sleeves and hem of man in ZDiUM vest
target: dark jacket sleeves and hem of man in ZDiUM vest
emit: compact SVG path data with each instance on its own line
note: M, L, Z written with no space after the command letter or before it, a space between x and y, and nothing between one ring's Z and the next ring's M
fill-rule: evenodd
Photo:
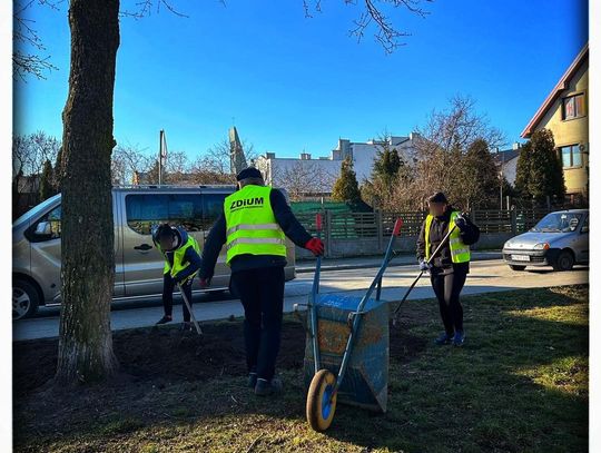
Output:
M272 189L269 195L269 201L272 203L272 209L277 224L284 232L284 234L298 247L304 247L311 239L311 235L298 223L294 216L290 207L286 203L284 194L277 189ZM223 245L226 243L226 220L225 214L221 207L219 217L210 228L205 248L203 248L203 267L200 268L201 278L210 278L215 272L215 263L219 256ZM235 274L240 270L255 269L258 267L284 267L286 266L286 258L277 255L238 255L229 262L231 273Z

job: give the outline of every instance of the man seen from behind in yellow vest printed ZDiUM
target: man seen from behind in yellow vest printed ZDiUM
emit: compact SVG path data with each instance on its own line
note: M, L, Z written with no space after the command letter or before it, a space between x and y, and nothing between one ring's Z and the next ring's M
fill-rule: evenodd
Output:
M282 391L275 365L282 333L286 236L316 256L323 255L324 244L298 223L282 191L265 186L258 169L242 170L237 181L238 190L226 197L207 237L199 276L200 285L207 286L225 244L230 285L244 306L248 386L262 396Z

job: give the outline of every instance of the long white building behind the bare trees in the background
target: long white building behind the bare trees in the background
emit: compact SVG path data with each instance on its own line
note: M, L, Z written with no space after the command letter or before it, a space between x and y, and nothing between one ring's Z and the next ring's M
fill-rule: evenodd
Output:
M387 139L388 148L396 149L405 163L413 164L418 137L415 132L408 137L391 136ZM382 140L355 142L341 138L327 157L312 158L308 152L302 152L298 158L276 157L275 152L266 152L257 159L256 167L267 184L285 187L289 193L331 194L346 157L353 159L357 180L362 184L370 178L377 151L383 150L384 145Z

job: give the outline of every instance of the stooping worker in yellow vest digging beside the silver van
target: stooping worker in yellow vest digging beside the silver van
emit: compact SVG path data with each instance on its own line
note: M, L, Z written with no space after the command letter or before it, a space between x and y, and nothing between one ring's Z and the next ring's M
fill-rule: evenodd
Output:
M188 302L193 303L191 284L200 268L200 247L194 237L181 227L162 224L152 230L152 242L165 258L162 268L162 307L165 315L157 324L173 321L174 289L176 284L181 286ZM191 329L190 312L181 304L184 324L181 329Z

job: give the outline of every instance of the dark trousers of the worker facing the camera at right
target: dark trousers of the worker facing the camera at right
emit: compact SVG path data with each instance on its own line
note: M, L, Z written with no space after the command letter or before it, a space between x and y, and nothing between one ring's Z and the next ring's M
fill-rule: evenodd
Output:
M441 317L447 335L453 335L455 331L463 331L463 307L460 302L460 293L466 277L466 270L461 268L455 268L450 274L434 270L430 277L432 288L439 299Z

